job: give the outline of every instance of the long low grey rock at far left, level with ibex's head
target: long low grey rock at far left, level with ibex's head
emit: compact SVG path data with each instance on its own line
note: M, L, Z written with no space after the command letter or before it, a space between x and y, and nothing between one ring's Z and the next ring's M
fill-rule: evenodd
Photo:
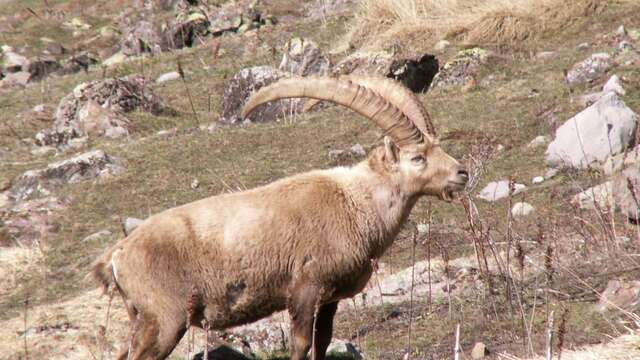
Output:
M120 174L123 168L102 150L49 164L44 169L29 170L14 180L10 196L15 202L47 196L50 189L103 176Z

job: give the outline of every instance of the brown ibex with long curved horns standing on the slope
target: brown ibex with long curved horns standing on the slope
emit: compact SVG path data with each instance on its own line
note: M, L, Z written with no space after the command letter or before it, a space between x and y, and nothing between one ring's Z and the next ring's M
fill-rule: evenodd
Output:
M388 136L355 166L178 206L117 242L93 275L117 289L131 320L120 359L164 359L189 326L224 329L285 309L291 359L312 344L324 359L338 302L363 289L416 201L451 201L467 183L420 101L393 80L287 78L253 94L242 116L284 98L344 105Z

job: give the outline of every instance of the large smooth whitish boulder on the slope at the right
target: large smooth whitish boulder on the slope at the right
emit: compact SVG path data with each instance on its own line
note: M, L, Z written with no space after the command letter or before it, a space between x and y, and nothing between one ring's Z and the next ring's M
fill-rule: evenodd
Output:
M602 162L633 143L637 122L638 115L610 92L556 130L545 160L555 168Z

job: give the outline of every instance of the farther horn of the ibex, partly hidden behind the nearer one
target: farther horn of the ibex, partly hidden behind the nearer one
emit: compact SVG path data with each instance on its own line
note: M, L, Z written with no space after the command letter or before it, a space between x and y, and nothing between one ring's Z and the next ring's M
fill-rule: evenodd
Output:
M402 111L432 141L436 135L431 116L418 97L396 80L381 76L343 75L340 79L348 79L358 85L367 87L380 94L387 101Z

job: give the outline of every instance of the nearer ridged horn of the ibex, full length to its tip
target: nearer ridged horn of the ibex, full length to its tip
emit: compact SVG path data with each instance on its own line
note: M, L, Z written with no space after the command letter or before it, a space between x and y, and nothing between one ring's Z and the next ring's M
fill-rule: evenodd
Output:
M393 103L374 90L348 80L330 77L292 77L279 80L254 93L241 116L256 107L285 98L312 98L346 106L376 123L398 146L423 143L423 132Z

